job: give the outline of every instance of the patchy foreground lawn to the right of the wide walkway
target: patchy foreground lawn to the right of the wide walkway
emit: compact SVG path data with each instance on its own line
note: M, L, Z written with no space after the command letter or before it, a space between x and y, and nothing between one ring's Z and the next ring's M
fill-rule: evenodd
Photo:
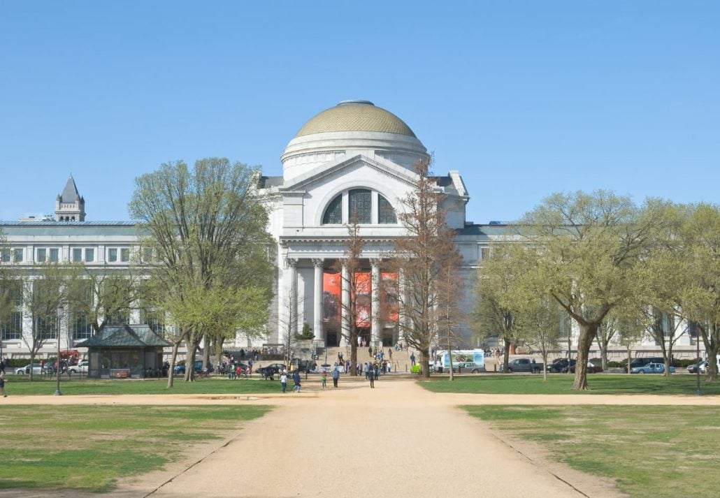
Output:
M633 498L720 495L720 407L463 407Z

